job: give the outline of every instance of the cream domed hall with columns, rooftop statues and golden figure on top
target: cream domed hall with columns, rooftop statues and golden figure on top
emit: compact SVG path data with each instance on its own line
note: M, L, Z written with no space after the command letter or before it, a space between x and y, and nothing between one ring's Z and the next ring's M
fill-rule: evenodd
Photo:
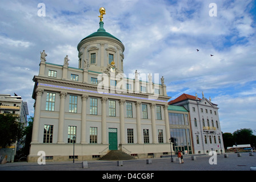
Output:
M35 113L29 162L38 151L46 159L99 158L110 150L145 158L170 154L166 85L126 78L125 46L103 28L79 42L78 68L46 61L41 52L39 75L34 76Z

